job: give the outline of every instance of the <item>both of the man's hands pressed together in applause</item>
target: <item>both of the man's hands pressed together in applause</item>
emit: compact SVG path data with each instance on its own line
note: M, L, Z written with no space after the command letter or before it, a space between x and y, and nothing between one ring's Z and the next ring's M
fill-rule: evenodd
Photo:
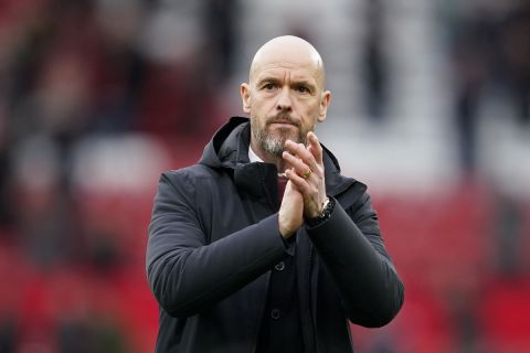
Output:
M288 182L279 207L279 232L288 238L304 220L317 217L326 201L322 147L315 132L307 133L307 147L292 140L285 142L283 159L288 168Z

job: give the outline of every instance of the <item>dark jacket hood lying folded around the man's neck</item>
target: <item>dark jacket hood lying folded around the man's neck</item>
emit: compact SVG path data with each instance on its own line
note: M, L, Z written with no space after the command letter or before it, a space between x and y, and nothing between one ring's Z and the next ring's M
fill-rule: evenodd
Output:
M253 178L244 178L244 174L255 174L254 169L263 168L259 174L276 175L276 167L271 163L250 163L248 145L251 141L251 124L248 118L232 117L222 126L204 147L199 161L214 169L229 169L235 179L253 182ZM329 195L337 195L357 181L340 174L340 165L337 158L324 145L324 167L326 172L326 188ZM250 173L248 173L250 172ZM248 175L247 175L248 176ZM254 179L255 181L255 179ZM365 185L359 183L365 190Z

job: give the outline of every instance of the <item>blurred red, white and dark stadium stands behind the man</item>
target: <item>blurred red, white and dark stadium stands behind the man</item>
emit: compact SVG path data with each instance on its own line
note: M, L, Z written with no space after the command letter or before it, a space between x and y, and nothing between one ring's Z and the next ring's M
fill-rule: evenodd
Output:
M317 132L405 282L358 352L530 352L530 1L1 0L0 352L150 352L159 173L242 115L267 40L321 53Z

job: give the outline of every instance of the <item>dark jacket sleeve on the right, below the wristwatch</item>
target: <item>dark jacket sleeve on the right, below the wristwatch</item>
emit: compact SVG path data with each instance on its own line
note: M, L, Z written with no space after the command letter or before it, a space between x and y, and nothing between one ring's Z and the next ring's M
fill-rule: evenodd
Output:
M389 323L403 304L404 287L384 248L370 196L364 193L348 211L336 202L331 216L307 232L350 321L371 328Z

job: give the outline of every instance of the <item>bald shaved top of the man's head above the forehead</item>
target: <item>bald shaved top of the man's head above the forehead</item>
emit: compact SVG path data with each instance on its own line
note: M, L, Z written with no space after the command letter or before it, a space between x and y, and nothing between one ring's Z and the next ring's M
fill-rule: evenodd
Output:
M264 67L287 65L314 71L320 88L325 84L324 62L315 46L301 38L283 35L265 43L254 55L248 73L248 83L253 83Z

